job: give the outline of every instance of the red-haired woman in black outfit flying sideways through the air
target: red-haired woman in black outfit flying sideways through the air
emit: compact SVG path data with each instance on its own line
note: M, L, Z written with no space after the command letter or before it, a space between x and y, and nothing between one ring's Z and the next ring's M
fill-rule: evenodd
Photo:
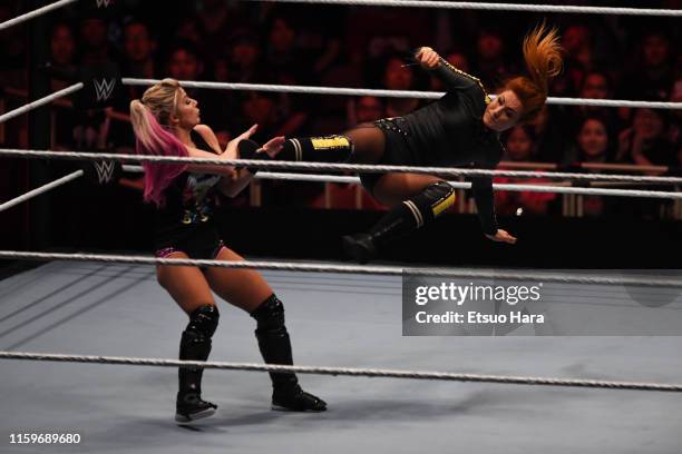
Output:
M528 75L507 80L494 100L477 78L456 69L431 48L420 48L415 59L442 81L446 96L403 117L360 125L343 135L289 139L276 159L493 169L504 151L499 134L538 115L549 79L562 69L557 34L542 24L525 37ZM437 176L363 174L360 178L374 198L392 206L368 233L344 237L347 253L360 263L370 260L390 240L431 223L455 203L452 187ZM471 180L486 236L515 243L497 226L491 179Z

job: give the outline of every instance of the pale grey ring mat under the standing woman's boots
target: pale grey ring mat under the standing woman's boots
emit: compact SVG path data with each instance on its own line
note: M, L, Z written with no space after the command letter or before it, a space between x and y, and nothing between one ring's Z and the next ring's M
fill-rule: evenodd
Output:
M682 382L682 337L401 335L401 279L265 272L301 365ZM576 287L577 288L577 287ZM213 361L260 362L218 302ZM679 310L678 310L679 312ZM0 282L0 349L175 358L185 315L153 268L50 263ZM207 371L217 413L173 421L173 368L0 361L2 453L680 453L682 395L301 375L321 414L270 411L257 372ZM71 433L77 445L10 444Z

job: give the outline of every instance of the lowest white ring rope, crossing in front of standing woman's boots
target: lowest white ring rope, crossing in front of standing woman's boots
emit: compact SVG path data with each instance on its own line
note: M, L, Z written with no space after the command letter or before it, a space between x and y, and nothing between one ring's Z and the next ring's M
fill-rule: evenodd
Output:
M211 368L218 371L280 372L316 375L347 375L352 377L381 377L436 379L447 382L497 383L505 385L564 386L630 391L682 392L682 384L620 382L606 379L554 378L512 375L460 374L455 372L397 371L357 367L284 366L279 364L201 362L123 356L82 356L51 353L0 352L0 359L48 361L57 363L111 364L126 366Z

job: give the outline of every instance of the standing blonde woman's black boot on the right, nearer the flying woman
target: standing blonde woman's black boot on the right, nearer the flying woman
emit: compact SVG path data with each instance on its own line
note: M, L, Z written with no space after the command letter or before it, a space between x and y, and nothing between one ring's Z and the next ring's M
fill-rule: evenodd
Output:
M267 364L293 365L291 340L284 326L284 305L273 294L251 316L256 319L259 348ZM270 373L272 379L272 409L292 412L323 412L327 403L301 389L292 373Z

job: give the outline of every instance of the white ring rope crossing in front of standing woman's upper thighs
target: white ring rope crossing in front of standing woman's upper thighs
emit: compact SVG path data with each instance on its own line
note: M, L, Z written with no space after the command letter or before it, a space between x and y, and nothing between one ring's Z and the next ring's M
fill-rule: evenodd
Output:
M125 255L100 255L100 254L64 254L64 253L32 253L23 250L0 250L0 259L22 260L70 260L70 261L99 261L107 264L136 264L136 265L170 265L170 266L213 266L218 268L240 269L274 269L282 272L302 273L342 273L366 274L386 276L427 276L427 277L452 277L452 278L480 278L480 279L509 279L533 280L562 284L585 285L632 285L642 287L670 287L682 288L682 279L640 279L622 276L572 276L558 273L524 273L495 269L457 269L457 268L403 268L399 266L367 266L367 265L341 265L319 263L292 263L271 260L244 260L225 261L191 258L158 258L149 256L125 256Z

